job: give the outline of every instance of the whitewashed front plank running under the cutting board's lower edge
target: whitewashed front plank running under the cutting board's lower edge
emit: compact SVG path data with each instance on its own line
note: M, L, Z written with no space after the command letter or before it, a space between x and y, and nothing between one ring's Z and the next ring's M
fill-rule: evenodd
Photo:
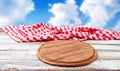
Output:
M120 70L120 60L97 60L94 63L91 63L86 66L80 67L58 67L45 64L37 60L4 60L0 61L1 69L16 68L17 70L29 69L29 70L42 70L42 69L51 69L51 70L85 70L88 69L92 71L95 70Z

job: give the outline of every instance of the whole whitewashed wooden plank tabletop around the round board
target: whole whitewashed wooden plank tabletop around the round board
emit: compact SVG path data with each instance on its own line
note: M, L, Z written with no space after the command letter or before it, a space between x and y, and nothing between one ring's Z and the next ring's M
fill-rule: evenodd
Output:
M45 42L17 43L5 33L0 32L0 71L120 71L120 40L84 41L98 52L98 59L86 66L58 67L41 62L37 49Z

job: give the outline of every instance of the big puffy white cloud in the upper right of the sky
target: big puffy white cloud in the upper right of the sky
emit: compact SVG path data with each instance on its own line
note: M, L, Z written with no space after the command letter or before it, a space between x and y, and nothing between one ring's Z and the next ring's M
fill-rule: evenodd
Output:
M87 26L104 28L117 12L120 12L119 0L84 0L80 7L85 15L90 17Z

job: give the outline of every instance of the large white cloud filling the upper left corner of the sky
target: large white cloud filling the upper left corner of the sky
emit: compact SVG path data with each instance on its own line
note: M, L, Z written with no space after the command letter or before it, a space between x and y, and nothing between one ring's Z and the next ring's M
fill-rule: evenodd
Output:
M0 1L0 26L13 24L24 20L34 10L32 0L1 0Z

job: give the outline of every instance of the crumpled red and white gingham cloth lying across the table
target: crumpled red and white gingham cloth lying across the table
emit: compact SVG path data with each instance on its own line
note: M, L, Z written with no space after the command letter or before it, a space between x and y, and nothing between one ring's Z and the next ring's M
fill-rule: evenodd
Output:
M45 40L120 40L120 32L102 30L86 26L57 27L48 24L34 24L31 26L9 25L1 28L17 42L36 42Z

